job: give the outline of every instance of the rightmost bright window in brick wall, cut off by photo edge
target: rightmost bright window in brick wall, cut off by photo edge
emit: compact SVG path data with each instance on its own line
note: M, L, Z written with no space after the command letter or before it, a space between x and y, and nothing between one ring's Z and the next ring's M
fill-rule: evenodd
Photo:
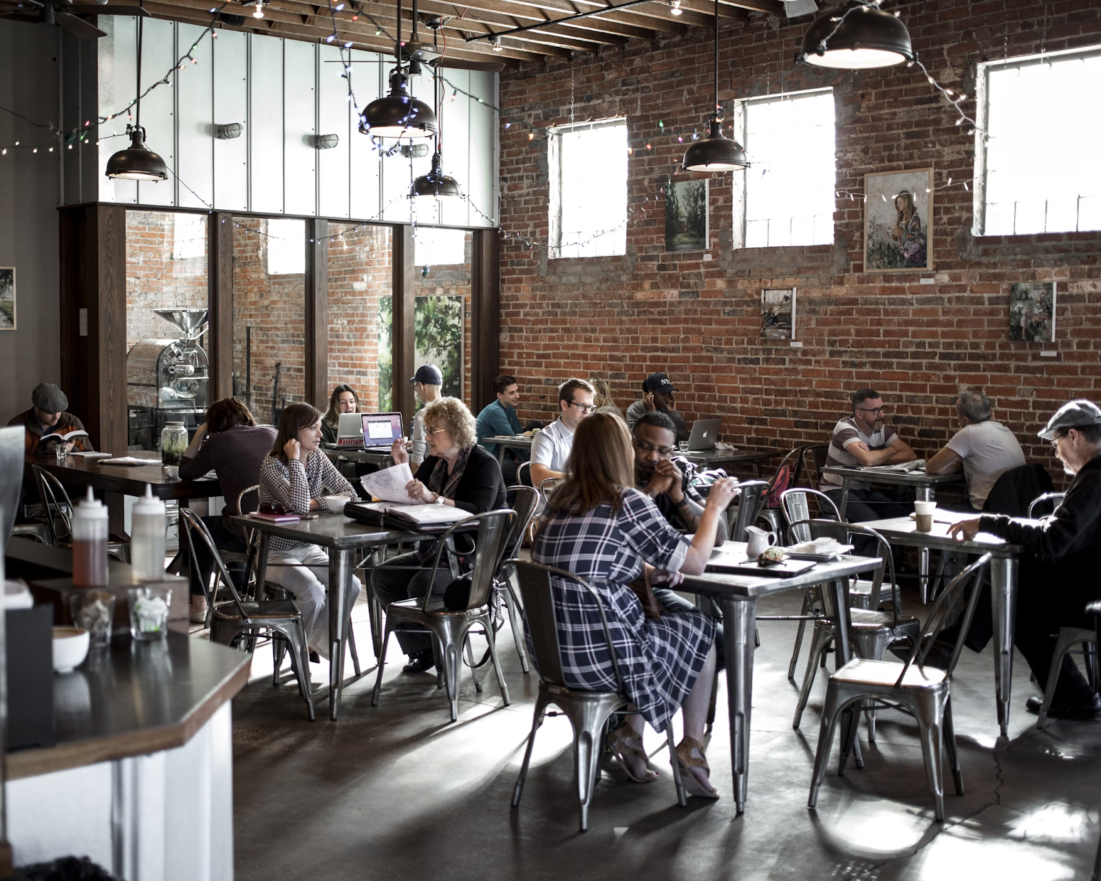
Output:
M1099 90L1097 48L979 66L978 235L1101 229Z

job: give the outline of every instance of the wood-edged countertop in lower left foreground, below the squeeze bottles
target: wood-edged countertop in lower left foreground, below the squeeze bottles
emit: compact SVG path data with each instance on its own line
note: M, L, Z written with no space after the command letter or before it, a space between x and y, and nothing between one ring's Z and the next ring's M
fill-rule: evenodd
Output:
M8 777L144 755L184 746L249 681L252 656L170 633L115 639L54 677L56 746L8 753Z

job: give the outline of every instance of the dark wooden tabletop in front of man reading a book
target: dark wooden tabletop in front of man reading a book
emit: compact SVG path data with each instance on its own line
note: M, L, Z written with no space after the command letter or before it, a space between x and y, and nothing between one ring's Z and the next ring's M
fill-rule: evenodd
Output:
M91 487L123 496L144 496L146 483L153 488L153 494L159 499L208 499L221 496L221 485L216 479L200 477L198 480L181 480L178 477L170 477L161 467L161 454L154 450L132 449L116 456L149 459L149 465L102 465L102 459L85 456L67 456L62 460L56 456L28 456L25 463L28 472L31 465L37 465L62 483Z

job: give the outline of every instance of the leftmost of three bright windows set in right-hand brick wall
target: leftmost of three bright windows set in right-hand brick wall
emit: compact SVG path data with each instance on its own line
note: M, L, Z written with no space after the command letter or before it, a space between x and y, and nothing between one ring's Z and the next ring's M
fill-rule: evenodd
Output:
M550 130L550 257L626 253L626 119Z

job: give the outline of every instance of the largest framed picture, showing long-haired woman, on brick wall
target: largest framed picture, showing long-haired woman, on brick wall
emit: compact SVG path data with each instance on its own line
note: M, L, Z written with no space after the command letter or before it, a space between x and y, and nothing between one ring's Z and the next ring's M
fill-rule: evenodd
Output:
M933 269L933 168L864 175L864 272Z

